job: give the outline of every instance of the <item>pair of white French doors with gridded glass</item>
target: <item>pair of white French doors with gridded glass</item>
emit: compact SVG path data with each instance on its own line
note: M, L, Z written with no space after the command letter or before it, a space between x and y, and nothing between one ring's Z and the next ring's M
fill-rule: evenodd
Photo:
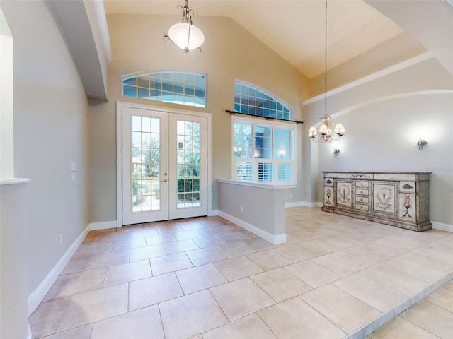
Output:
M122 225L207 215L207 117L121 107Z

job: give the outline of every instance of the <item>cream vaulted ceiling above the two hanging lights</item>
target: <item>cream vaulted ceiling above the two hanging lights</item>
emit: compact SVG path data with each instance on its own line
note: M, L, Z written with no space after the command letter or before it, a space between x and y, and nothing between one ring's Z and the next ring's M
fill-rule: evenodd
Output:
M105 13L175 16L183 0L104 0ZM324 0L189 0L197 16L226 16L246 28L308 78L324 71ZM328 0L328 68L403 32L362 0Z

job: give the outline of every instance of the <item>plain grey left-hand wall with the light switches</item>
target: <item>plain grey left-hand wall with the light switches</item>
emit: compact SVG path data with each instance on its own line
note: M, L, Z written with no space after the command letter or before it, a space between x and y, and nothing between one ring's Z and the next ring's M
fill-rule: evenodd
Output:
M15 176L32 179L15 206L17 213L27 206L30 220L22 239L30 295L88 225L88 102L47 4L2 1L1 8L14 41Z

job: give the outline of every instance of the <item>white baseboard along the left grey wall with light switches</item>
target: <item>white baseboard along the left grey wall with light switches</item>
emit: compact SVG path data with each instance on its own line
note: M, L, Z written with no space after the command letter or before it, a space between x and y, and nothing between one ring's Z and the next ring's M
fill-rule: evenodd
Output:
M77 239L71 244L71 246L69 246L69 249L67 249L62 258L59 259L57 265L55 265L55 267L52 268L52 270L50 271L49 274L47 274L44 280L42 280L42 283L40 283L36 290L30 293L30 295L28 296L28 316L30 316L35 311L40 302L42 302L42 299L44 299L45 295L47 295L47 292L49 292L50 287L54 285L59 275L67 266L67 263L69 263L71 257L79 248L80 244L84 242L86 234L88 234L89 230L90 227L88 225L81 232L79 237L77 237Z

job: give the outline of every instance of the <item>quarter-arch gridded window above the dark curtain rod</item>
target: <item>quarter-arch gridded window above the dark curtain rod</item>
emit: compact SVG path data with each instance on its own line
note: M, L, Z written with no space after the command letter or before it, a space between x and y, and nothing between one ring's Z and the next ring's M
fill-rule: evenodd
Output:
M292 109L262 88L246 83L234 82L234 110L256 117L291 120Z

